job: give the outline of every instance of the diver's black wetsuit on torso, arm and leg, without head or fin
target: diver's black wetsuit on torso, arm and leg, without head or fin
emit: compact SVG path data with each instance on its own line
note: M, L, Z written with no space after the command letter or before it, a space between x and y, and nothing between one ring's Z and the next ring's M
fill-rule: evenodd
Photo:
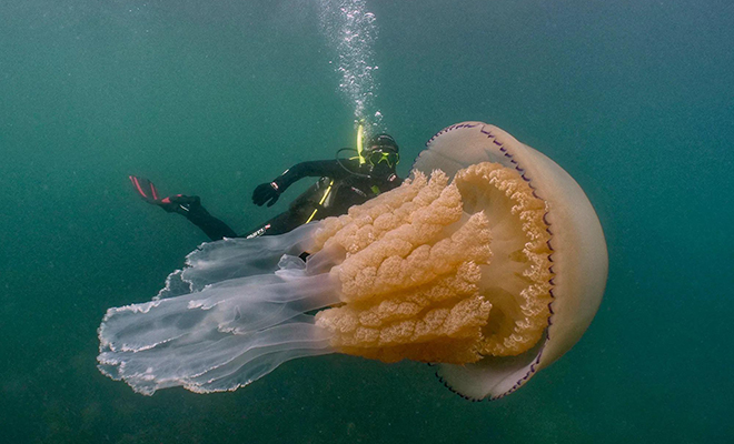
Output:
M179 201L180 198L185 198L191 200L190 202L177 202L177 198L169 199L179 204L179 208L172 211L186 215L212 241L222 238L282 234L310 221L345 214L349 206L365 203L377 194L393 190L403 183L403 180L393 171L379 175L374 171L368 174L369 172L368 167L360 165L356 159L298 163L271 182L275 184L277 195L302 178L320 178L318 182L300 194L287 211L240 235L237 235L225 222L209 214L201 206L198 198L177 196Z

